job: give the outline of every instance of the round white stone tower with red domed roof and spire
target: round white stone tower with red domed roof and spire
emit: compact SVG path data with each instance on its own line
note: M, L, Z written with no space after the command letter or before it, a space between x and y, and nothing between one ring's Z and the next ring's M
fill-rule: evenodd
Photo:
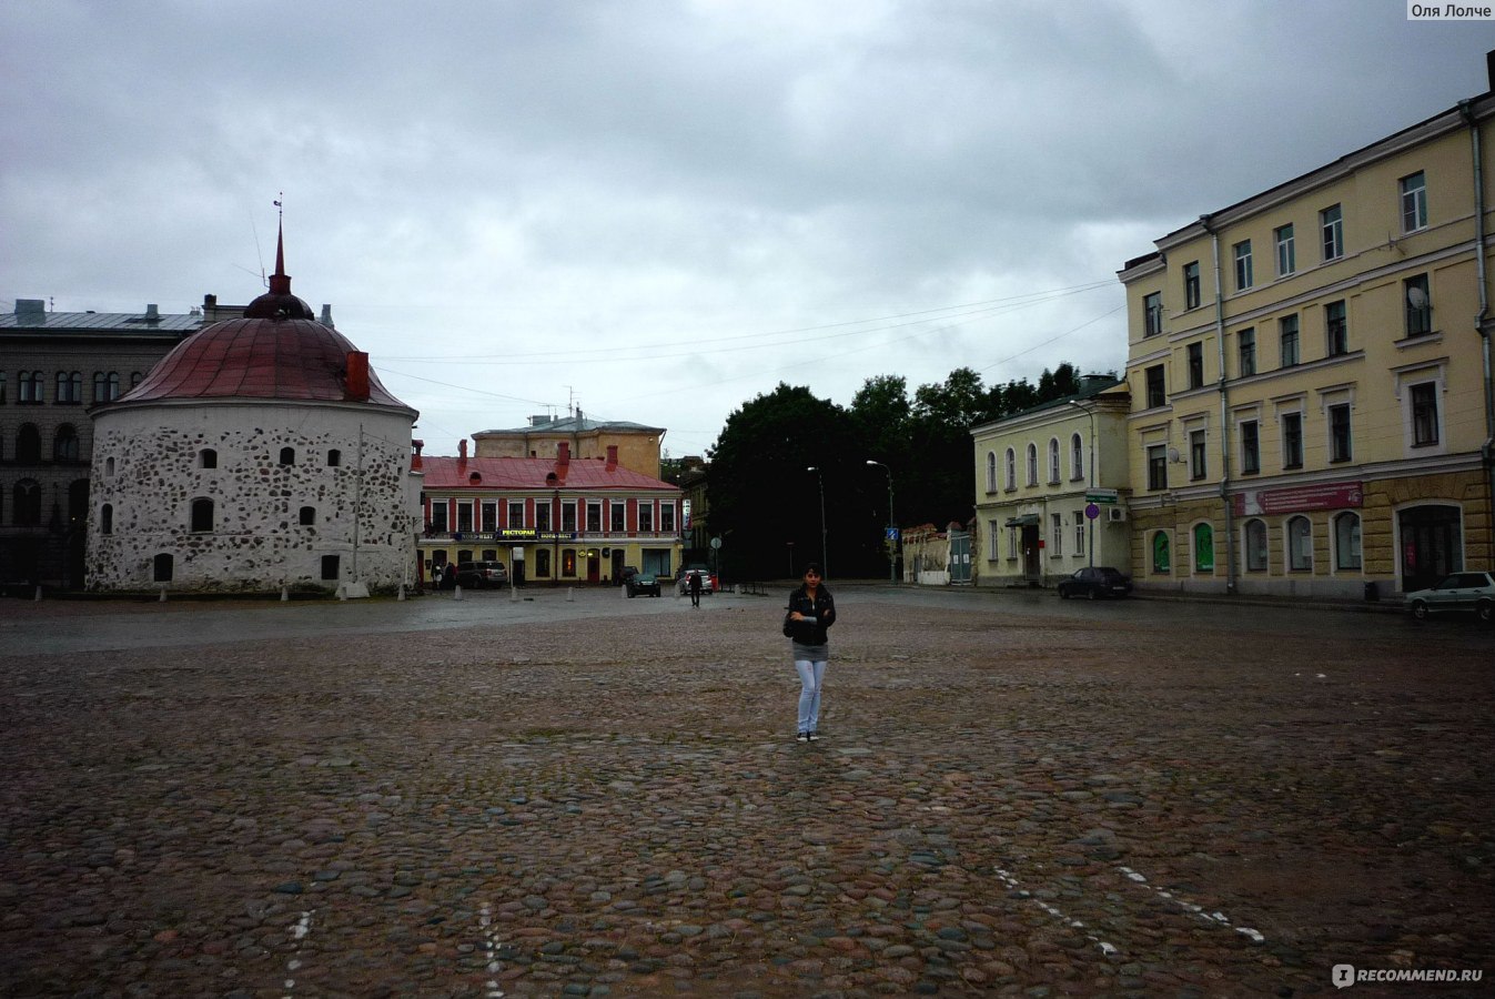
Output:
M88 589L393 591L416 574L416 410L290 293L93 408Z

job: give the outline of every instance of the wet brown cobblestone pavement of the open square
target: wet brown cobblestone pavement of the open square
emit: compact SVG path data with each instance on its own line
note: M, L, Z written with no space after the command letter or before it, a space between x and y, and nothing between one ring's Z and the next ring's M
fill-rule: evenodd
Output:
M0 995L1489 990L1488 630L703 603L0 604Z

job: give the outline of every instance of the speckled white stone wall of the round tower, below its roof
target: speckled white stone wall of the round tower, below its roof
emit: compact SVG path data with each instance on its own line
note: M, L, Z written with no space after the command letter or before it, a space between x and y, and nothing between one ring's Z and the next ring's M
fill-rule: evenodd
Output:
M88 589L333 591L362 582L393 591L416 562L410 437L408 413L366 404L103 410L94 426ZM290 465L280 461L284 447L295 449ZM215 468L202 467L205 449L217 453ZM335 467L330 450L341 453ZM191 529L199 498L212 500L211 531ZM314 508L312 523L300 522L302 507ZM166 583L155 580L161 553L173 556ZM336 580L323 579L327 555L338 556Z

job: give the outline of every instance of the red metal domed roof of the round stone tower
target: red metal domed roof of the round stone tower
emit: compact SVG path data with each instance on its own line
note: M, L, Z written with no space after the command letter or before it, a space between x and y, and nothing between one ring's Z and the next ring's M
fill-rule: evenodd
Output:
M347 336L312 319L229 319L176 344L120 402L157 399L311 399L348 392ZM410 408L368 372L368 402Z

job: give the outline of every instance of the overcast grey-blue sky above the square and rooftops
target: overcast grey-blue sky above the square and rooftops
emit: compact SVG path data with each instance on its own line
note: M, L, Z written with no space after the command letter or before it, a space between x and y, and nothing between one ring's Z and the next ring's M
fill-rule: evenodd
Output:
M1405 0L0 0L0 301L244 304L274 269L428 455L588 416L701 455L1126 360L1121 265L1488 90Z

